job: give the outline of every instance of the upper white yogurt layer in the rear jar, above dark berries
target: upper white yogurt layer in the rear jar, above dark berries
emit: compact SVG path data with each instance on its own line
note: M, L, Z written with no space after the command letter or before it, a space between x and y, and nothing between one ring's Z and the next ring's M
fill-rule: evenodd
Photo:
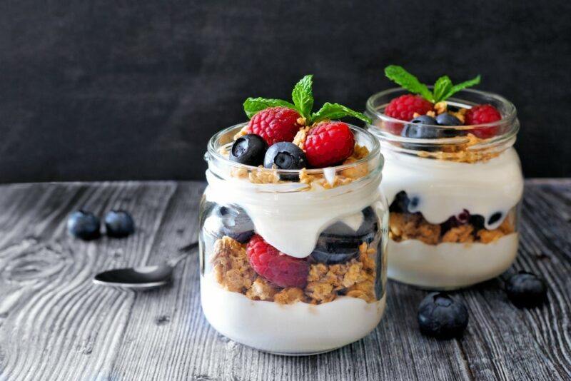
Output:
M508 148L500 156L479 163L456 163L383 151L385 166L380 187L393 202L395 195L405 191L418 205L409 212L423 213L428 222L440 224L464 209L485 218L485 228L495 229L487 221L494 213L505 217L522 197L523 178L520 159L515 149Z

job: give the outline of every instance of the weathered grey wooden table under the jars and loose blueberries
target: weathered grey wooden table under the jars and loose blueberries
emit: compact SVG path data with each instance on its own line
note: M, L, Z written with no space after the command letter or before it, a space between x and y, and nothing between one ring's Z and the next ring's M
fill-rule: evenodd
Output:
M520 256L549 303L512 307L500 279L458 293L470 311L460 340L418 332L425 295L390 283L378 328L340 350L281 357L218 335L204 319L198 258L171 287L127 293L91 284L107 268L158 263L196 240L203 183L0 186L0 380L570 380L571 180L527 181ZM78 208L130 210L123 240L66 235Z

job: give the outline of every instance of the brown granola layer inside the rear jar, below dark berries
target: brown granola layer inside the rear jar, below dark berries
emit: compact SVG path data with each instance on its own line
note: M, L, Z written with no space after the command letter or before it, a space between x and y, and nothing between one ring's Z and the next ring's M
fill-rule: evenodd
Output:
M453 227L443 227L429 223L420 213L391 212L389 217L389 238L400 242L403 240L420 240L428 245L439 243L491 243L504 235L515 231L510 217L506 217L502 224L493 230L477 228L471 223Z

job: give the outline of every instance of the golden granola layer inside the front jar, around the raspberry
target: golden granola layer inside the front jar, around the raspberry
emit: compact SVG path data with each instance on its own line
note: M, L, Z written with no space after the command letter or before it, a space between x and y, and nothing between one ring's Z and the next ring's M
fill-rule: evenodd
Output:
M212 257L213 274L223 288L242 293L251 300L280 304L327 303L338 295L373 303L375 298L375 253L367 243L360 245L358 258L348 263L310 265L308 283L302 288L280 288L257 275L246 255L246 245L228 236L216 240Z

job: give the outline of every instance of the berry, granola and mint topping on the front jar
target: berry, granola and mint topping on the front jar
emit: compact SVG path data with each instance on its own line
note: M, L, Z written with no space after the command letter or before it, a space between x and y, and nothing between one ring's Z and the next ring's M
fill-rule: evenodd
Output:
M295 84L293 103L271 98L246 99L244 111L250 121L236 133L233 143L223 147L221 154L255 168L232 168L231 176L251 183L299 182L334 188L368 174L367 165L359 165L368 156L368 148L360 146L350 126L338 119L351 116L371 123L370 118L329 102L312 112L312 88L313 76L308 75ZM348 168L331 176L326 171L311 171L343 165ZM278 173L283 170L298 172Z

